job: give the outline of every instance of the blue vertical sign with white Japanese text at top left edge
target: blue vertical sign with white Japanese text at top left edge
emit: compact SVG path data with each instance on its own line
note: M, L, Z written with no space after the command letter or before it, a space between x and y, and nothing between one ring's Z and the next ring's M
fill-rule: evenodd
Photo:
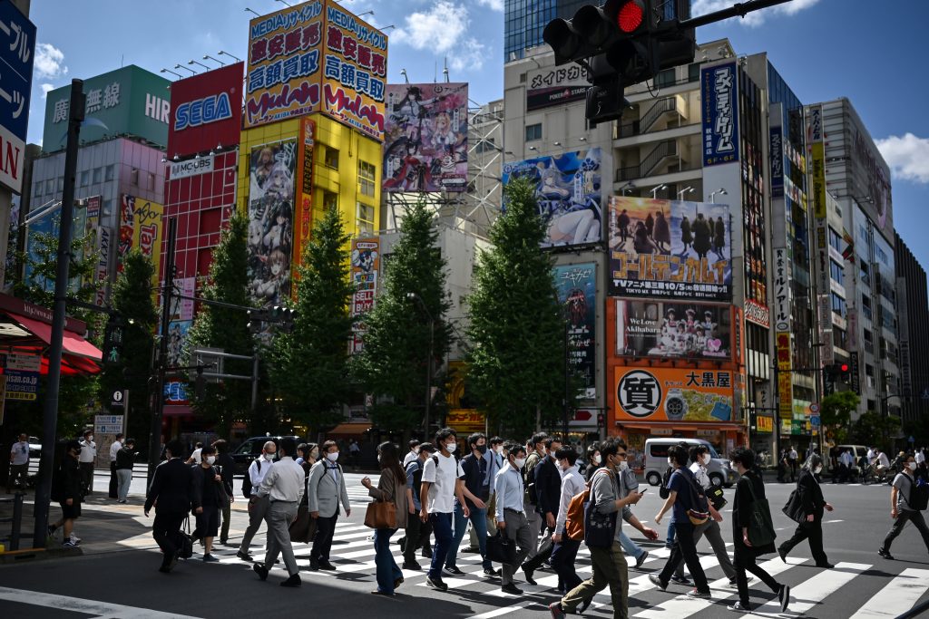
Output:
M10 0L0 0L0 185L17 193L25 174L34 51L35 25Z

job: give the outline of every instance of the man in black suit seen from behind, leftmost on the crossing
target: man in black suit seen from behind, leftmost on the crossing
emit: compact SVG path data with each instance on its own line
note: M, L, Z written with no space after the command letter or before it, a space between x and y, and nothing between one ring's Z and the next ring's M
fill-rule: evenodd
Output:
M165 445L167 460L155 467L149 493L145 499L145 515L155 506L155 521L151 535L162 549L164 558L159 572L167 574L177 563L182 548L180 527L190 509L200 507L200 497L194 491L193 471L184 463L184 444L177 439Z

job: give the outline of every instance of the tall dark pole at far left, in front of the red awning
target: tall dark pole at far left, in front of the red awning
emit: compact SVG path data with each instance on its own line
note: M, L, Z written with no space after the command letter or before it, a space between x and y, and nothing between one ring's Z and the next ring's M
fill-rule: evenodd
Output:
M61 383L61 349L68 303L68 270L71 266L72 219L74 217L74 180L77 174L77 148L84 122L84 82L71 81L71 105L68 111L68 145L64 153L64 187L61 196L58 264L55 272L55 303L52 303L52 334L48 348L48 393L42 417L42 458L39 461L39 484L35 489L35 529L33 548L45 548L48 537L48 504L51 501L52 464L55 458L58 429L59 386Z

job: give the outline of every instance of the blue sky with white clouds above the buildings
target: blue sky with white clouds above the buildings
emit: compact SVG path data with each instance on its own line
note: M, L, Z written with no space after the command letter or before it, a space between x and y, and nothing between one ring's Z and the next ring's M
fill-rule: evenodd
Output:
M295 3L291 3L295 4ZM693 0L695 14L732 0ZM158 72L225 50L245 59L246 7L264 15L275 0L33 0L37 47L29 141L40 143L45 94L72 78L93 77L136 64ZM503 97L504 0L346 0L357 15L390 37L387 76L411 82L469 82L470 97ZM767 52L804 103L847 97L867 125L893 173L894 220L901 237L929 267L922 207L929 205L929 64L925 24L929 0L792 0L704 26L699 42L728 38L739 55ZM166 77L171 77L165 73Z

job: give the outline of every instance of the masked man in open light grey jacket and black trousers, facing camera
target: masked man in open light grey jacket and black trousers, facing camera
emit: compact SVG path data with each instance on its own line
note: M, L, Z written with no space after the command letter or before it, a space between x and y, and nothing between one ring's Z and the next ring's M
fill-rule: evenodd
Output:
M335 522L339 519L339 504L346 510L346 517L351 516L351 504L348 502L346 477L338 464L339 445L335 441L322 444L323 458L309 470L307 480L307 509L309 517L316 519L316 539L309 552L309 569L334 570L329 561L329 552L333 548Z

